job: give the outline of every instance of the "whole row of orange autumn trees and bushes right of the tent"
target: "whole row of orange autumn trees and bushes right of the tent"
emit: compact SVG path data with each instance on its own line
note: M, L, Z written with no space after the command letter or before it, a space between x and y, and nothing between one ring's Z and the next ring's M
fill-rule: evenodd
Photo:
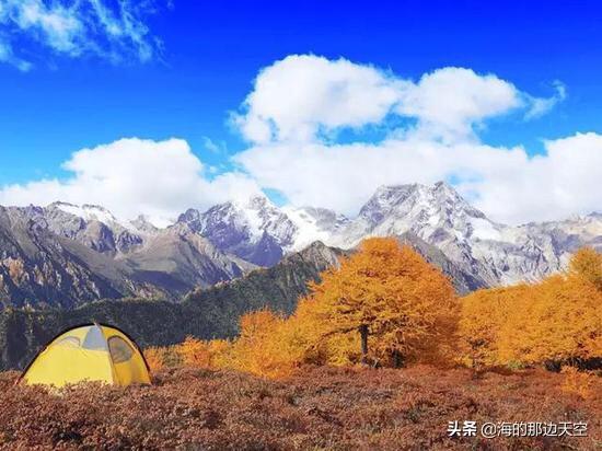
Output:
M248 313L235 340L188 337L162 362L175 349L189 366L287 378L303 365L351 366L364 357L381 366L461 360L475 368L600 358L601 262L586 250L566 275L476 291L459 305L450 281L413 250L394 239L369 239L311 284L290 317ZM153 354L147 351L149 360Z

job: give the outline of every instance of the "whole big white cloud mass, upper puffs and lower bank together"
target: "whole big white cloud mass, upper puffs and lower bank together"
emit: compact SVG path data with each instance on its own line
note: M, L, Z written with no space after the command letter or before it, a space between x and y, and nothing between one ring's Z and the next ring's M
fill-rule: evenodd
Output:
M297 206L348 215L383 184L454 181L493 219L520 223L602 210L602 137L546 141L546 153L488 146L488 118L522 112L535 118L566 97L556 82L548 99L495 74L442 68L417 82L339 59L292 56L263 70L238 117L253 146L234 161L265 188ZM381 142L340 144L321 131L413 118Z

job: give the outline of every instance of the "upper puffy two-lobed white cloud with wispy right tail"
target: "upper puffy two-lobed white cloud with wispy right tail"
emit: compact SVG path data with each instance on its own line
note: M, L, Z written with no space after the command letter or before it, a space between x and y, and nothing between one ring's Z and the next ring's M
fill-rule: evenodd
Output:
M473 139L475 126L517 108L542 115L560 94L535 97L465 68L438 69L414 82L343 58L292 55L259 72L234 123L251 142L300 142L395 115L416 120L413 132L449 141Z

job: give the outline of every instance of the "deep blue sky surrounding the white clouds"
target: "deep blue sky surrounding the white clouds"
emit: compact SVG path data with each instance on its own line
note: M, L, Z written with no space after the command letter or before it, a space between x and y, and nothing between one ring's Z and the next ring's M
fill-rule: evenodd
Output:
M11 8L11 2L0 0L0 5ZM60 4L25 2L47 12ZM141 26L136 36L148 44L150 55L139 51L131 35L111 41L102 31L82 37L77 49L66 48L65 43L60 47L36 25L19 24L14 15L2 20L0 12L0 44L10 45L12 55L2 61L0 53L0 187L68 181L73 174L63 163L80 149L120 138L160 142L173 137L186 141L205 171L216 167L207 171L208 180L240 170L261 189L279 193L276 197L281 201L311 201L314 197L300 194L303 187L289 190L266 177L255 162L232 161L256 143L245 139L231 114L245 111L241 105L253 92L259 70L290 55L314 55L328 61L345 58L414 82L440 68L461 67L481 76L495 74L532 97L558 97L549 111L534 118L525 119L524 108L512 109L475 125L478 143L506 149L520 146L528 155L545 155L543 140L602 134L601 7L595 1L559 3L371 1L344 8L317 1L158 1L131 7ZM114 12L115 24L124 25L116 2L105 4ZM86 13L82 8L73 14ZM95 20L88 14L90 23ZM19 67L23 62L26 67ZM563 99L559 85L566 90ZM380 141L390 136L395 117L368 122L369 127L355 131L346 125L331 127L336 132L328 135L327 142ZM402 166L400 172L404 172ZM400 183L406 178L400 177ZM461 188L482 199L485 209L495 210L491 206L503 198L481 193L481 187L470 183ZM571 192L569 199L576 212L602 207L600 198L576 203L577 196ZM362 193L348 205L332 200L325 206L349 211L364 197ZM545 208L555 201L551 199ZM505 220L530 219L523 210L493 213ZM560 208L562 213L569 210L565 205Z

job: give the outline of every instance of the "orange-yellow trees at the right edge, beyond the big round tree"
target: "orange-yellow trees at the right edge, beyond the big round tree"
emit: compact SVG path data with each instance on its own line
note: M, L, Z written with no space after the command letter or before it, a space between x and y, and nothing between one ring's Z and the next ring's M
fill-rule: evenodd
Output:
M464 360L571 362L602 357L602 256L581 250L566 275L472 293L462 301Z

